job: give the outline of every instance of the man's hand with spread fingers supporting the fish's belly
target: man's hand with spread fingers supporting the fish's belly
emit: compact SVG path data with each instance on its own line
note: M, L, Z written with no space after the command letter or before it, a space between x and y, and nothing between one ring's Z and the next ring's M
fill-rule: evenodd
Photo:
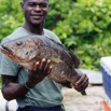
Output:
M33 87L41 82L52 70L51 60L43 58L33 65L33 70L29 70L28 80L26 84Z

